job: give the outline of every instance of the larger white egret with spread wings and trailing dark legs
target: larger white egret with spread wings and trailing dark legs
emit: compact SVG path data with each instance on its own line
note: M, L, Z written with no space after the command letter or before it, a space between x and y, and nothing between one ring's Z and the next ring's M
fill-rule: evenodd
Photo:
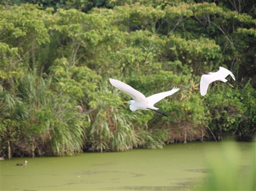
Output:
M171 96L171 94L174 94L179 90L179 88L174 87L171 91L165 91L162 93L154 94L149 97L145 97L142 93L135 90L131 86L123 83L122 81L115 80L115 79L109 79L110 83L119 88L119 90L124 91L124 93L127 93L129 96L131 96L134 100L131 101L125 101L124 103L130 104L130 110L136 111L136 110L152 110L155 112L158 112L159 114L162 114L166 117L168 117L165 112L157 111L158 108L154 107L154 104L158 101L162 100L163 98L167 96Z

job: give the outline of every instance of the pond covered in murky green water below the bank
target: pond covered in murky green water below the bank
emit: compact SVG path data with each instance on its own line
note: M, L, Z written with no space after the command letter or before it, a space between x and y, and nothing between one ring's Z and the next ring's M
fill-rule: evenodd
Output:
M236 166L251 169L255 142L232 145L225 141L189 142L163 149L5 159L1 161L1 190L191 190L195 182L208 177L209 161L226 156L232 147L236 150L228 156L238 157ZM212 151L218 154L208 155ZM25 160L27 166L16 166Z

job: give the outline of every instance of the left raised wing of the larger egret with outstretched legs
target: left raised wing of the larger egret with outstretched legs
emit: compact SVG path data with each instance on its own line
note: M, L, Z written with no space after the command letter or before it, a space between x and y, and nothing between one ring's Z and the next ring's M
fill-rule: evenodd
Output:
M142 93L135 90L131 86L123 83L122 81L115 80L115 79L109 79L109 81L113 86L115 86L119 90L124 91L124 93L127 93L129 96L131 96L134 99L134 101L148 103L147 98Z

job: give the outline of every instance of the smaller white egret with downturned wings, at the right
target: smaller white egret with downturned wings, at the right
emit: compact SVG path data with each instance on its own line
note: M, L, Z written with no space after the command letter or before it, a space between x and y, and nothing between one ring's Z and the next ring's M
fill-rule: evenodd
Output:
M202 75L200 80L201 96L205 96L205 94L207 93L209 84L212 83L213 81L219 80L219 81L227 82L228 80L226 80L225 77L227 77L228 75L230 75L232 79L235 80L235 76L232 74L232 72L230 70L224 69L224 67L220 67L220 70L216 72L209 72L208 74ZM229 85L233 87L231 84Z

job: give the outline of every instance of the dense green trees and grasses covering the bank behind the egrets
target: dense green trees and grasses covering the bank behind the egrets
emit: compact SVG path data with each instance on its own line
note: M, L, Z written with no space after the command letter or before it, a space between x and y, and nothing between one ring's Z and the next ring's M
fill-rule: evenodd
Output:
M55 9L3 2L1 155L161 148L220 140L224 132L254 136L254 1L104 1L107 8L88 4L84 12L80 1ZM217 81L200 96L201 75L219 66L235 75L227 78L234 88ZM145 96L180 90L155 105L168 118L132 112L122 104L131 98L109 77Z

